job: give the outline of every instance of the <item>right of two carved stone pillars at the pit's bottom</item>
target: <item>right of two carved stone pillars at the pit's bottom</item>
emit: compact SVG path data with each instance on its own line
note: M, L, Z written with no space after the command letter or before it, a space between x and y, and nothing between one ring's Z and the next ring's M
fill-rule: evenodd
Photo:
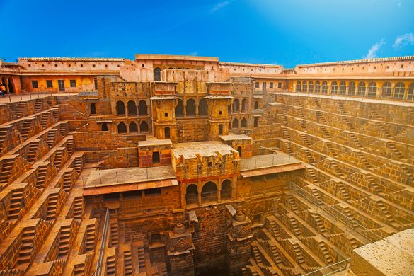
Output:
M227 268L229 275L240 275L240 270L250 258L251 220L243 212L234 214L227 234Z

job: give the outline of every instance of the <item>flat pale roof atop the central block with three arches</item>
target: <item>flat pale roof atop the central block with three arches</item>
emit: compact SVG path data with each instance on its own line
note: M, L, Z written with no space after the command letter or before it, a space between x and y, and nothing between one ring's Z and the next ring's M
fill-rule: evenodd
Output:
M185 159L197 157L195 154L200 154L200 156L217 156L217 152L222 155L236 152L231 146L227 146L219 141L173 144L172 151L176 158L182 155Z

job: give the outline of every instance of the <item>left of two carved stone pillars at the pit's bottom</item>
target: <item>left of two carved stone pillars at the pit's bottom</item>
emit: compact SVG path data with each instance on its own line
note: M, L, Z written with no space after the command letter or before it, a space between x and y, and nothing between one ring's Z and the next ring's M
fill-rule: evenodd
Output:
M168 264L172 276L193 276L194 260L191 232L182 223L168 232Z

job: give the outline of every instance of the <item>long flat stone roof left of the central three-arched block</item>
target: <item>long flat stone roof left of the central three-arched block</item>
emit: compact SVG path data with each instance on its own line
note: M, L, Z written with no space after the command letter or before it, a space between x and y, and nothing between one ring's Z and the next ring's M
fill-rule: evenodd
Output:
M176 173L171 165L150 168L113 168L109 170L92 171L88 180L86 180L84 188L148 183L166 179L176 179ZM137 188L142 188L144 186L145 185L138 185Z

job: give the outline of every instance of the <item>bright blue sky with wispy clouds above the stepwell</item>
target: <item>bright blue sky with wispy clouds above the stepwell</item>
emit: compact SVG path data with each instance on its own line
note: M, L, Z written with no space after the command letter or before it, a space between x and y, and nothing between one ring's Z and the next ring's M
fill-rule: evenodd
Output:
M192 54L295 64L414 54L414 0L0 0L0 57Z

